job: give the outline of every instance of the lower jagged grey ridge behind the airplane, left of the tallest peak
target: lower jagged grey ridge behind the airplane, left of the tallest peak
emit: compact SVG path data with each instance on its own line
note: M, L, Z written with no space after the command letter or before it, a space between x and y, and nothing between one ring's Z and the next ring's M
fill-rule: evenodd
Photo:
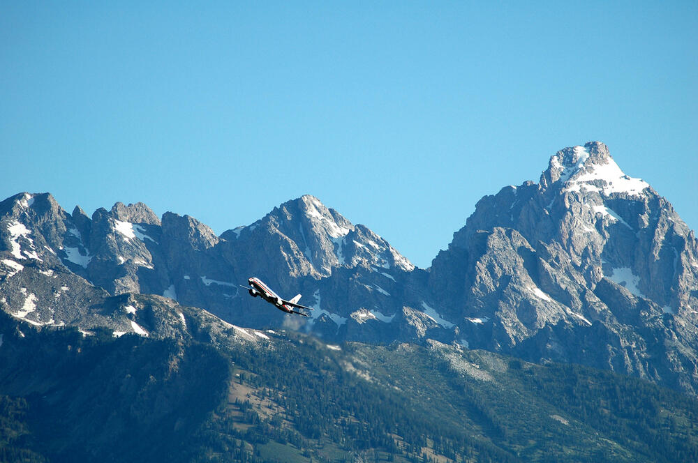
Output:
M27 264L52 273L44 278L65 275L70 280L64 282L61 276L60 284L53 281L52 287L73 288L80 282L80 294L158 294L244 326L291 324L331 338L375 342L394 339L403 320L395 319L396 314L403 305L419 306L415 298L426 291L425 271L415 269L370 229L352 225L311 196L281 204L252 225L220 237L188 215L168 212L158 220L142 203L117 203L110 211L98 209L91 218L76 206L70 215L48 194L10 197L0 203L0 217L0 278L8 293L17 294L3 306L11 314L26 312L20 310L26 294L16 291L31 273L24 271ZM310 319L289 319L249 298L238 284L251 275L284 296L302 291L302 302L317 310ZM415 284L415 279L422 283ZM56 305L53 293L31 294L39 307ZM351 316L362 311L369 316ZM37 317L40 312L31 313ZM74 324L79 318L45 317L52 321L47 324Z

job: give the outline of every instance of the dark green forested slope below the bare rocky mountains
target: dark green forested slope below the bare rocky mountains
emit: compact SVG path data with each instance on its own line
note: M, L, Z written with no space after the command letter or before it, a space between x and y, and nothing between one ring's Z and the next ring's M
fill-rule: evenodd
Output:
M698 458L696 400L588 367L283 332L214 349L0 317L0 461Z

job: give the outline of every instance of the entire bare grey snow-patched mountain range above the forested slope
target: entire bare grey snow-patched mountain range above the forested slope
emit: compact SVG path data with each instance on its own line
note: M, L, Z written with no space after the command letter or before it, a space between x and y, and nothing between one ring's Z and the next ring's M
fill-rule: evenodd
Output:
M88 329L111 316L95 318L96 301L156 294L242 326L332 342L456 342L690 393L697 257L671 204L598 142L553 155L539 183L483 197L427 270L309 195L221 236L188 215L160 220L142 203L91 218L48 194L0 203L0 305L29 323ZM238 284L250 276L281 296L304 294L311 317L248 297ZM114 329L131 319L123 325Z

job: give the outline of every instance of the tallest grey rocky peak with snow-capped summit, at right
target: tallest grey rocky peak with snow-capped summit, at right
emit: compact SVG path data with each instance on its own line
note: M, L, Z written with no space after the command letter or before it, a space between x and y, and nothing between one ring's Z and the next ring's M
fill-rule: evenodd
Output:
M697 256L671 204L593 142L556 153L539 184L482 198L429 286L470 347L695 393Z

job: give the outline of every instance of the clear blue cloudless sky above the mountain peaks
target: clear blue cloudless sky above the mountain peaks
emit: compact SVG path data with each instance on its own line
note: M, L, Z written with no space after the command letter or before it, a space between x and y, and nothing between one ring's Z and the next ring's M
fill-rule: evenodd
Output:
M304 194L422 268L599 140L698 229L695 1L0 3L0 199L217 234Z

